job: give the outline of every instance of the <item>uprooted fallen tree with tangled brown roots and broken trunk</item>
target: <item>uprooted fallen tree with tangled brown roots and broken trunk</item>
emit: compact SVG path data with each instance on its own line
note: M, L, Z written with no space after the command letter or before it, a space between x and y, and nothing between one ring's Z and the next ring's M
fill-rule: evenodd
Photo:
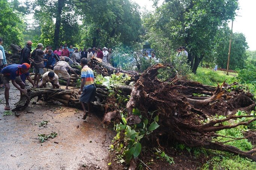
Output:
M152 117L152 115L149 115L150 112L153 112L155 116L158 115L160 127L150 135L150 145L154 145L155 141L179 142L188 147L227 151L256 161L256 149L241 151L236 147L226 145L229 141L220 142L216 140L217 137L226 137L218 135L217 131L240 125L249 125L256 120L254 115L250 115L250 111L255 109L255 101L253 95L249 92L241 91L241 89L233 89L229 92L223 87L225 82L217 87L206 86L198 82L179 79L177 75L168 81L162 82L156 77L158 70L172 68L169 64L156 64L141 75L137 72L116 69L97 58L91 60L89 67L103 75L123 72L132 76L132 79L136 82L134 86L119 85L116 88L125 94L131 94L125 108L128 113L127 125L135 125L142 121L140 117L132 113L134 108L140 110L142 116L148 118L148 120ZM194 94L203 96L200 97ZM71 107L80 106L80 96L75 89L29 89L27 94L21 96L21 100L16 103L14 110L26 108L33 97L39 97L38 100L44 101L60 101ZM92 104L96 108L95 110L104 113L103 122L105 124L109 124L111 120L121 119L119 110L110 110L106 107L108 99L108 89L103 85L97 85L97 94ZM248 114L238 116L236 115L238 110L243 110ZM216 114L223 115L223 117L214 119ZM222 124L242 117L250 119L233 125ZM248 137L252 136L244 138ZM228 138L230 138L230 141L241 139Z

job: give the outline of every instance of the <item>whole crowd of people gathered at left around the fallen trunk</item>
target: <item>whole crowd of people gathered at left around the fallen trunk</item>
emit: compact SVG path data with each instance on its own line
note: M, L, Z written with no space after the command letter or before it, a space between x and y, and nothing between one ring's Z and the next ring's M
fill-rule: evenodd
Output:
M37 44L37 48L35 50L31 50L31 41L27 41L27 44L21 50L21 56L19 64L7 64L6 57L4 54L4 48L2 46L3 39L0 38L0 84L5 88L4 97L6 100L6 105L4 107L5 110L10 110L9 104L9 91L10 84L9 81L12 82L13 86L15 86L22 94L26 93L25 90L25 80L27 79L34 88L45 88L46 83L50 82L52 84L52 88L60 88L59 84L59 75L61 75L64 79L67 80L67 86L65 89L68 89L68 85L70 82L70 73L73 73L74 76L78 75L72 67L69 65L73 63L80 63L82 66L81 70L81 85L79 88L79 94L81 95L79 101L83 108L83 119L86 119L87 115L90 114L89 110L91 108L90 102L94 101L96 87L94 85L94 73L87 66L88 60L91 60L91 57L98 57L103 60L103 62L110 61L110 57L112 54L112 49L103 48L86 48L83 51L80 49L78 51L77 48L72 47L67 48L67 45L60 46L55 51L52 50L52 47L46 47L43 50L43 44ZM63 48L64 47L64 48ZM32 53L31 53L32 51ZM108 59L109 58L109 59ZM33 66L34 81L30 77L30 67ZM44 68L51 69L44 73ZM42 78L41 78L42 75ZM88 105L88 109L85 108L85 103Z

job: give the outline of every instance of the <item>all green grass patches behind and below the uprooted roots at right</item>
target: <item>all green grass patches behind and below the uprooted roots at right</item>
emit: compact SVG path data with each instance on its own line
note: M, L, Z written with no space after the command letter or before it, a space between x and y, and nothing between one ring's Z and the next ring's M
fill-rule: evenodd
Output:
M217 86L217 84L222 84L225 80L226 80L226 83L228 84L232 84L233 82L238 82L238 80L236 79L237 75L238 75L237 73L230 73L229 75L226 75L226 73L223 71L213 71L211 69L198 67L196 75L191 74L190 78L193 81L197 81L205 85ZM255 94L254 89L252 89L252 93ZM256 125L256 123L254 124ZM232 134L232 136L234 135L235 137L238 134L242 134L244 132L244 128L245 130L249 129L247 127L243 127L240 129L237 128L237 131L234 134ZM228 134L228 135L231 135L231 134ZM251 145L251 142L249 141L246 141L246 143ZM236 141L236 147L243 149L243 146L244 146L244 141L242 140ZM256 163L247 158L241 158L240 156L229 154L226 152L220 152L220 151L209 150L209 152L211 152L211 155L214 155L214 156L211 157L211 159L208 160L207 163L204 164L199 169L201 170L220 170L220 169L221 170L222 169L255 170L256 169Z

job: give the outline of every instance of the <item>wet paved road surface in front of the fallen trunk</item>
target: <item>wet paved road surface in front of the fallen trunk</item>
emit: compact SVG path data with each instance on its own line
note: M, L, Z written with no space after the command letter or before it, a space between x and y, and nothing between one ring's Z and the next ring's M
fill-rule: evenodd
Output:
M0 99L4 98L3 91L0 90ZM11 85L10 97L18 92ZM10 100L11 107L18 98ZM83 121L81 110L79 113L75 108L56 103L38 104L30 104L19 112L19 117L0 114L1 170L76 170L84 163L107 169L112 130L103 128L95 115ZM3 108L4 101L0 104L1 113ZM43 120L49 120L48 125L39 127ZM44 143L37 139L38 134L51 132L58 136Z

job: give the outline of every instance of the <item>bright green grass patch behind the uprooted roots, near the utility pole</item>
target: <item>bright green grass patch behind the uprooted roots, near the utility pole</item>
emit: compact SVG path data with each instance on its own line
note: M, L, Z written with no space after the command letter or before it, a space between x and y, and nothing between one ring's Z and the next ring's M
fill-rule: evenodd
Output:
M196 75L191 74L190 78L204 85L217 86L218 84L222 84L225 80L226 83L232 84L234 81L237 81L235 76L235 73L226 75L226 72L223 71L213 71L212 69L198 67Z

